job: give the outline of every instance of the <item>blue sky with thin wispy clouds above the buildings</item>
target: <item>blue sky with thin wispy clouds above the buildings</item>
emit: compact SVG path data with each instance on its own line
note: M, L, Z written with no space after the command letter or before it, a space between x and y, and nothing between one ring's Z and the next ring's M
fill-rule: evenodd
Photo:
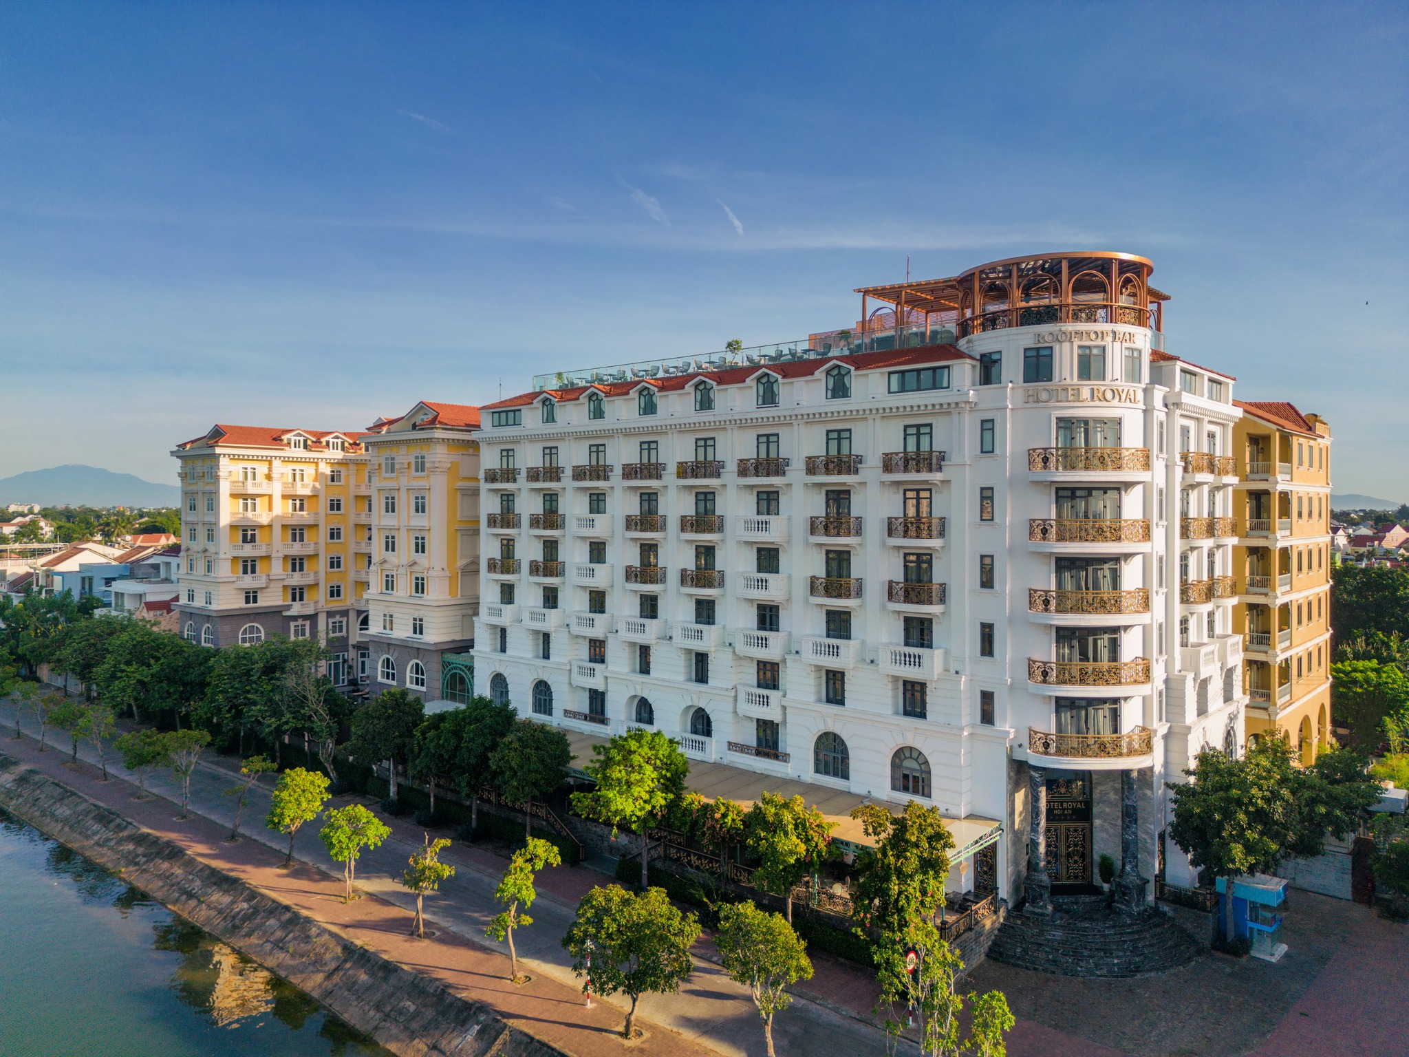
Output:
M1409 499L1403 4L8 4L0 476L1122 249Z

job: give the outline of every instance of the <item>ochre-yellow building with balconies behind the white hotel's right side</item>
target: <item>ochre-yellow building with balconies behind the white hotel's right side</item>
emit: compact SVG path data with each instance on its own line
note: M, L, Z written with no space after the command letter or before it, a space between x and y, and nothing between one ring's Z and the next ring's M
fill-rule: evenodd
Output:
M1310 764L1330 744L1330 427L1285 402L1236 403L1247 734L1281 731Z

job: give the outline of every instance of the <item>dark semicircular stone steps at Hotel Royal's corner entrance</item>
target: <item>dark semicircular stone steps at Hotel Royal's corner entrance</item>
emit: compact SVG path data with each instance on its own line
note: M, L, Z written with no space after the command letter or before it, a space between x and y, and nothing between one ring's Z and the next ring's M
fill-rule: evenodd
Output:
M1058 977L1144 977L1188 965L1203 946L1157 908L1116 913L1103 895L1053 896L1053 913L1009 913L988 957Z

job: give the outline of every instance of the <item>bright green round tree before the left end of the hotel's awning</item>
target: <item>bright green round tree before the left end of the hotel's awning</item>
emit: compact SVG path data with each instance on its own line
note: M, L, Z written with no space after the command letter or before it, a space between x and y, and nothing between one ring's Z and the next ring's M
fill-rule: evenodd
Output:
M641 889L650 881L651 826L685 793L690 765L669 737L659 730L617 734L606 746L593 746L583 769L596 782L590 792L572 793L572 808L588 819L641 834Z

